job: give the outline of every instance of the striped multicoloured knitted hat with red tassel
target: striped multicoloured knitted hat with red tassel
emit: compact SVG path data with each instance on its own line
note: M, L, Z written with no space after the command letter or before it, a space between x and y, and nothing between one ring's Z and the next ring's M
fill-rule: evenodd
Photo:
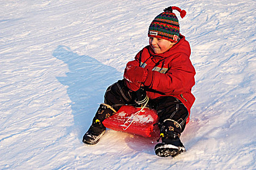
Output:
M164 12L155 17L151 22L147 34L149 37L166 39L171 42L178 41L178 37L180 35L180 24L172 10L179 11L182 18L186 15L186 11L181 10L176 6L169 6L168 8L165 8Z

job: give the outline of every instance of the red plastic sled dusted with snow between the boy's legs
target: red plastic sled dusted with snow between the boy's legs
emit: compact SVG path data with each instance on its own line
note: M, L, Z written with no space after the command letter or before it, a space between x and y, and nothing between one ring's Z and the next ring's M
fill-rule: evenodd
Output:
M158 138L160 130L154 125L158 120L155 110L124 105L113 116L105 119L103 124L112 130Z

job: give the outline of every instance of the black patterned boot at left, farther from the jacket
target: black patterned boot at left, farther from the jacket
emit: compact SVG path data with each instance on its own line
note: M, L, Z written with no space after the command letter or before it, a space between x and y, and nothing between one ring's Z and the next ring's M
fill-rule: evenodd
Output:
M106 127L102 124L104 119L113 115L114 111L109 108L110 106L101 104L95 117L92 120L92 124L86 134L83 136L83 142L86 144L96 144L100 140L100 137L106 132Z

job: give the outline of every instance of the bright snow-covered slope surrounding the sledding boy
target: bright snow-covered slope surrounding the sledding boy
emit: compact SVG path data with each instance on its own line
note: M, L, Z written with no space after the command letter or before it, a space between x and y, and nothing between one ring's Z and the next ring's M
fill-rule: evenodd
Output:
M0 170L255 170L256 0L0 0ZM187 152L82 136L168 6L196 68Z

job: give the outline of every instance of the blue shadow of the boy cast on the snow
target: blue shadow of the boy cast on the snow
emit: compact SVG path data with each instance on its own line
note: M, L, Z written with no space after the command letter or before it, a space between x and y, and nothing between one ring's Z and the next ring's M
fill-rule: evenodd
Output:
M74 127L70 131L82 139L91 125L108 86L119 79L122 73L104 65L87 55L78 55L65 46L58 46L53 56L68 65L65 77L56 77L62 85L67 85L71 100Z

